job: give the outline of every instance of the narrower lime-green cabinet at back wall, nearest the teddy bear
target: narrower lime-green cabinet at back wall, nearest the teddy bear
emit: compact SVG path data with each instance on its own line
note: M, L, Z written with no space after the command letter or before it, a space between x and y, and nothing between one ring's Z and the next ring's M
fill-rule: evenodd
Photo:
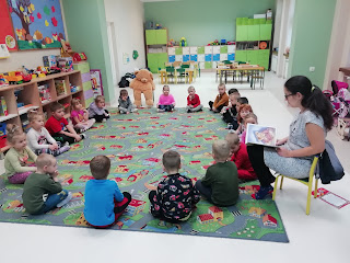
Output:
M151 72L156 73L167 62L167 31L147 30L145 49L147 64Z

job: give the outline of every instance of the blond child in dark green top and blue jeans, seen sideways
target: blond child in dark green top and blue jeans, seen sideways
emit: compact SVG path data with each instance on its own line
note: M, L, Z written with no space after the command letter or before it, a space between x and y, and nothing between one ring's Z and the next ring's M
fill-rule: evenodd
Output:
M32 173L23 187L23 206L31 215L45 214L56 207L62 207L72 194L58 182L55 157L42 153L36 159L37 171Z

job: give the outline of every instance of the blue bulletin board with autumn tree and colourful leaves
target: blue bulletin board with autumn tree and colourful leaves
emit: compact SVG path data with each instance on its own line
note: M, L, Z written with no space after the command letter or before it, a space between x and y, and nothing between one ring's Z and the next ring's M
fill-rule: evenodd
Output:
M60 48L66 39L59 0L8 0L19 49Z

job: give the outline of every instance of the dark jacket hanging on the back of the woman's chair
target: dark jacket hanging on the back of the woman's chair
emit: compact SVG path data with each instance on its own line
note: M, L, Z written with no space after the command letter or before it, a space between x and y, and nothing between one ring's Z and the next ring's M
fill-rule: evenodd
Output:
M317 174L323 184L329 184L331 181L340 180L345 175L343 168L336 155L335 147L329 140L326 140L326 148L319 157Z

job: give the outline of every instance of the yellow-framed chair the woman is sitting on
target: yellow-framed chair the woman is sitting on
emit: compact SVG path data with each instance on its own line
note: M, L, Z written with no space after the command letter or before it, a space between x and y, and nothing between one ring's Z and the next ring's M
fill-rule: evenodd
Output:
M316 165L317 165L317 162L318 162L318 158L319 158L319 155L314 157L314 160L313 160L313 163L311 165L307 179L294 179L294 178L285 176L283 174L279 174L276 178L276 181L275 181L275 188L273 188L272 199L275 201L276 192L277 192L278 178L280 178L280 176L281 176L280 190L282 188L282 184L283 184L283 179L284 178L288 178L288 179L294 180L296 182L300 182L302 184L305 184L308 187L307 201L306 201L306 215L308 216L310 215L311 195L312 195L312 191L313 191L313 180L314 180L314 175L316 173ZM317 197L317 184L318 184L318 179L315 178L314 198Z

